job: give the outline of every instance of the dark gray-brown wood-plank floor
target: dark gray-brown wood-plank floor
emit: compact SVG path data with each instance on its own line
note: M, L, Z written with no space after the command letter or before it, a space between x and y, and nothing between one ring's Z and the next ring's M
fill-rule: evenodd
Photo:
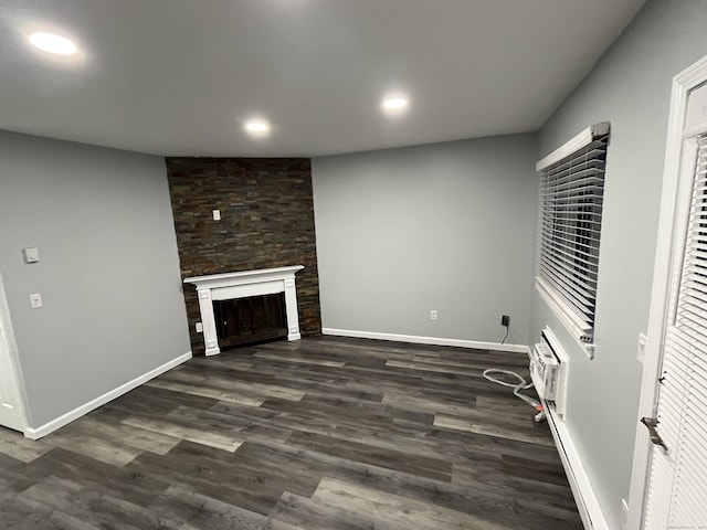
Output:
M489 367L527 358L324 337L193 359L39 442L0 428L0 527L581 529L548 426Z

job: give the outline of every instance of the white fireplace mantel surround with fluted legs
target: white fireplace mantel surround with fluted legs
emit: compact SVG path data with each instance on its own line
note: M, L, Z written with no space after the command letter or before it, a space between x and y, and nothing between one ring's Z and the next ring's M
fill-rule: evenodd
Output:
M217 332L213 300L232 300L249 296L285 294L285 312L287 315L287 340L297 340L299 333L299 316L297 314L297 290L295 274L304 265L292 267L261 268L241 273L210 274L184 278L184 284L197 286L201 325L203 327L203 342L207 356L221 352Z

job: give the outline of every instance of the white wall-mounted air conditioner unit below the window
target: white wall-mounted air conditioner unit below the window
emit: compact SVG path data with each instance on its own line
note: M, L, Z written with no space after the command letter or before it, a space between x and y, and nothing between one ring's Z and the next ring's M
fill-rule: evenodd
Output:
M530 353L530 377L541 400L558 415L567 413L567 383L570 358L549 327L542 330L540 342Z

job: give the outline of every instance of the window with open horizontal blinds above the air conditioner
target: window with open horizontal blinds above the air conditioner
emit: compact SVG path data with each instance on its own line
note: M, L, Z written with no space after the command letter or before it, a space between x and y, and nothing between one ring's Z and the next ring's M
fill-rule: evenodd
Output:
M609 124L593 125L542 160L536 286L593 353L599 240Z

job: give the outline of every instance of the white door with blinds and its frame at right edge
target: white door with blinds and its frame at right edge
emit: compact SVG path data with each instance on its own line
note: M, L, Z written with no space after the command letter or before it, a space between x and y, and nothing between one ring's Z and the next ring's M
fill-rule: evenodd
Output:
M630 530L707 529L707 57L674 80Z

